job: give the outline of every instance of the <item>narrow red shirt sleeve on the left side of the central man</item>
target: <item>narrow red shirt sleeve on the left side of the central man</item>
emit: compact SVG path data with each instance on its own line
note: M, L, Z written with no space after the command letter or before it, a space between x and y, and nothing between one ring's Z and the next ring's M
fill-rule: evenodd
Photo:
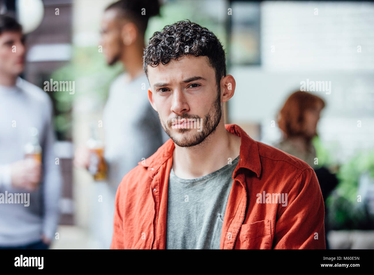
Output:
M123 179L122 179L123 182ZM119 184L116 201L114 204L113 237L110 249L124 249L123 235L123 194L121 192L122 182Z

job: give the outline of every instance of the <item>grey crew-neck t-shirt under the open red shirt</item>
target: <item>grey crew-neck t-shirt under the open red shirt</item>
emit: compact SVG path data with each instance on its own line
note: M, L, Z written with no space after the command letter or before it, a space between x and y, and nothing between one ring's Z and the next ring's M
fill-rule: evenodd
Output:
M239 156L194 179L169 175L166 249L220 249L221 230Z

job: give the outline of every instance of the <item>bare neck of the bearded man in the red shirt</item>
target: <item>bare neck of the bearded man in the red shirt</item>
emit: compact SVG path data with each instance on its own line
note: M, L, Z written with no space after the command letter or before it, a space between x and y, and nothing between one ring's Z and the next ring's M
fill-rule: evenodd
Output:
M175 145L173 171L180 178L198 178L221 169L239 156L240 137L228 132L221 120L214 133L193 147Z

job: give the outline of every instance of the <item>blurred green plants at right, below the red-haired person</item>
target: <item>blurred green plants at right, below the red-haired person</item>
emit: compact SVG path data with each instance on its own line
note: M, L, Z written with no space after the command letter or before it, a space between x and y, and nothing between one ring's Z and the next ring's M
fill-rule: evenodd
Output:
M313 139L319 166L334 165L331 154L321 140ZM337 172L338 186L327 198L330 229L373 229L374 217L367 211L365 202L358 202L358 184L362 174L374 178L374 149L358 152L350 161L341 164Z

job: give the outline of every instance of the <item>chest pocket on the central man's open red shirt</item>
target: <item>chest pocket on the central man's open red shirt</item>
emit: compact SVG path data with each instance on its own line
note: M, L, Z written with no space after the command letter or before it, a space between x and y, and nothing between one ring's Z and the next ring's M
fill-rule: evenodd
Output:
M235 249L271 249L271 221L262 220L242 224L236 238Z

